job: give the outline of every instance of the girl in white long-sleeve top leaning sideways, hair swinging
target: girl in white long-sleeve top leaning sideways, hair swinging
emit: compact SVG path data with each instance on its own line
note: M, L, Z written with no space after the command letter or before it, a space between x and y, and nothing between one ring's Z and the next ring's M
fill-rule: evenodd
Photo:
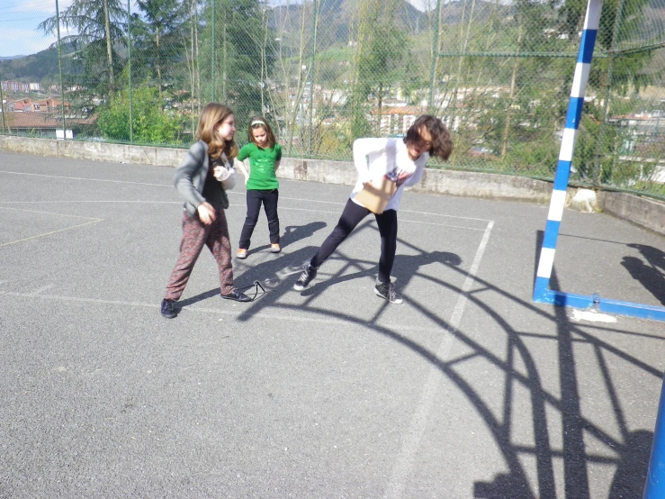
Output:
M312 257L310 263L302 269L301 277L293 287L301 291L310 285L317 275L319 266L337 249L343 240L355 229L370 212L360 201L355 200L363 187L373 180L387 177L396 183L397 190L391 196L382 213L374 213L381 235L381 258L379 275L374 286L374 293L391 304L402 303L401 296L391 283L392 263L397 249L397 209L400 206L402 191L405 186L415 186L423 176L423 170L429 156L448 159L453 150L450 134L441 120L435 116L420 116L411 127L407 136L401 139L358 139L354 142L354 163L358 170L358 181L337 227ZM369 163L367 161L369 159Z

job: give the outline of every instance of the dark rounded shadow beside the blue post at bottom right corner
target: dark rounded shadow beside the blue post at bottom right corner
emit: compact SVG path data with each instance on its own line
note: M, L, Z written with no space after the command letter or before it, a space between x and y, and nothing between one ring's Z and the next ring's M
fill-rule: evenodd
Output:
M608 499L642 497L649 458L652 452L652 431L638 430L628 433L619 452L619 463L609 488Z

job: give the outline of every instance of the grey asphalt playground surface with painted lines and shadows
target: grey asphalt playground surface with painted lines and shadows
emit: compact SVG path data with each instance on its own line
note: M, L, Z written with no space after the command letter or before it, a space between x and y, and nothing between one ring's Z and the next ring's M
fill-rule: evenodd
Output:
M283 180L265 293L204 249L169 321L173 173L0 153L0 497L641 497L665 325L532 303L546 205L405 193L395 305L369 217L292 289L351 188ZM552 285L663 305L664 249L567 210Z

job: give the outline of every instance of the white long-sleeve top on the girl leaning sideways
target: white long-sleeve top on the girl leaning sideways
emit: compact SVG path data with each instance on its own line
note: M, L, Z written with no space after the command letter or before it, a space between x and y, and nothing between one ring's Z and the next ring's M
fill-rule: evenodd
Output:
M418 184L423 176L427 158L429 158L429 153L424 152L415 161L411 160L407 145L402 139L357 139L354 142L354 164L355 169L358 170L358 181L351 193L351 200L355 204L360 204L354 198L363 190L365 182L386 175L393 179L408 175L409 177L397 188L385 208L397 211L404 187ZM362 206L362 204L360 205Z

